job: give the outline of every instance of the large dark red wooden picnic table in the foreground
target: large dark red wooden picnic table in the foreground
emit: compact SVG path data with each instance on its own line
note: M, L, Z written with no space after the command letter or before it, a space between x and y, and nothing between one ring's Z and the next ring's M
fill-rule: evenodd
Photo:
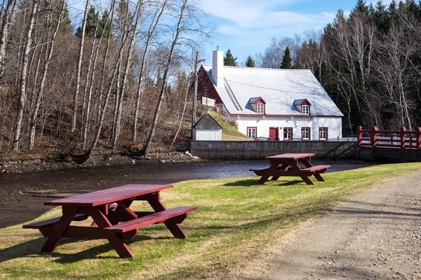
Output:
M164 223L176 238L186 238L180 223L197 207L166 209L160 198L161 190L173 185L124 185L98 190L72 197L60 198L45 205L61 206L62 216L38 223L24 225L48 237L43 252L52 252L62 237L108 239L121 258L134 258L124 239L133 239L139 228L153 223ZM149 202L154 211L133 211L135 200ZM90 226L71 225L72 221L93 218Z

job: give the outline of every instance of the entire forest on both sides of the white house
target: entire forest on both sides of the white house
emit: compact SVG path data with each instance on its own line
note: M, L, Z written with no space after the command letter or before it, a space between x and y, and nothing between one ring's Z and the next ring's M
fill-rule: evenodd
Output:
M189 140L195 56L214 31L199 2L85 0L80 24L66 0L0 5L0 156L146 155ZM311 69L344 113L345 136L359 125L413 130L420 22L414 0L358 0L323 30L274 34L243 66Z

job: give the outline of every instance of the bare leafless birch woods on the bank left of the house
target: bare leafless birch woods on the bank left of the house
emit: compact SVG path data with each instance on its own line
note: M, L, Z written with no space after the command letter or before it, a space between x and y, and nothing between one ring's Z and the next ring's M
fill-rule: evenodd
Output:
M3 0L1 153L147 154L189 139L192 63L212 32L197 3L83 4L74 32L65 0Z

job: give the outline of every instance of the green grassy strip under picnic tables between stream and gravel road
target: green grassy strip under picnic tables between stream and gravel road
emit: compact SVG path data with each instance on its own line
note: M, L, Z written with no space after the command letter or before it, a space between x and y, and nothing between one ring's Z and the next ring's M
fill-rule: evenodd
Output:
M314 186L294 177L264 186L257 185L258 177L176 183L162 192L166 207L199 207L182 223L187 239L173 238L161 224L128 241L134 259L118 258L106 240L62 239L53 253L39 253L46 238L16 225L0 229L0 279L236 278L301 222L378 183L420 170L421 163L377 165L324 174L326 182ZM135 208L147 209L140 202ZM60 208L39 220L55 216Z

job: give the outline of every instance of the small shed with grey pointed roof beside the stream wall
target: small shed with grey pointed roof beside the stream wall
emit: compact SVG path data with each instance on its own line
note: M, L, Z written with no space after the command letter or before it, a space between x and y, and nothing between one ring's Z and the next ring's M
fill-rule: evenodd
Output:
M209 113L206 113L193 125L193 140L221 141L222 127Z

